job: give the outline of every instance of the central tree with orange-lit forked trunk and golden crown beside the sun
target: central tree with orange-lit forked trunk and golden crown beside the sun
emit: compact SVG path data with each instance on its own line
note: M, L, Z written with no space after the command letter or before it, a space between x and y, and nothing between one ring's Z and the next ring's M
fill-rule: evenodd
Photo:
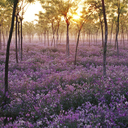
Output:
M66 22L66 55L69 56L69 25L70 20L72 18L72 12L76 11L78 8L78 0L40 0L43 9L47 12L47 10L54 10L52 16L63 16ZM55 15L54 15L55 14ZM58 20L59 21L59 20Z

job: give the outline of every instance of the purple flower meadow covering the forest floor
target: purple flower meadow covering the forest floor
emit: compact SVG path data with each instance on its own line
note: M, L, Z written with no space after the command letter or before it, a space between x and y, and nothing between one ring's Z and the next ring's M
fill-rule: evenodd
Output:
M127 128L128 48L108 45L103 77L101 46L25 44L16 64L11 46L9 101L0 106L1 128ZM0 51L0 103L4 92L5 50Z

